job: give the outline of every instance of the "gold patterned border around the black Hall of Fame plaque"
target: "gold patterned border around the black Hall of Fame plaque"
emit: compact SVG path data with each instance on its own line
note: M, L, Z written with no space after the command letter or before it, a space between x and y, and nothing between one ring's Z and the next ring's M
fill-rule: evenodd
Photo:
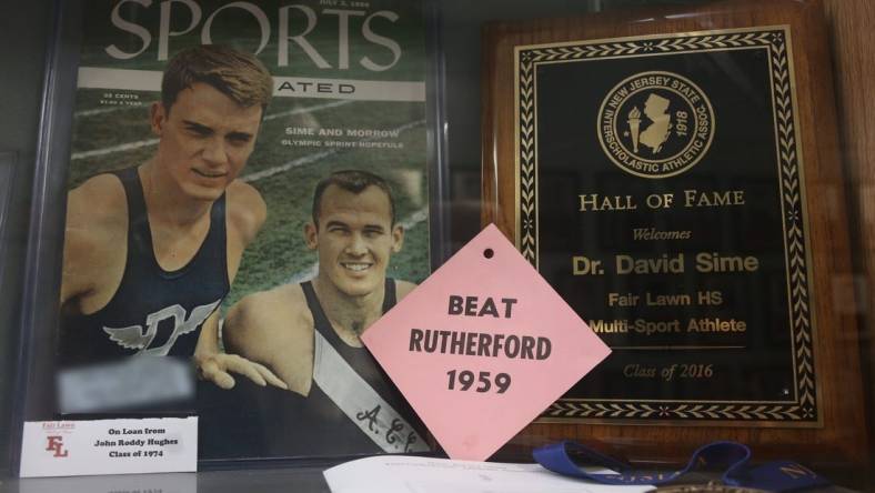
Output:
M650 36L614 40L579 41L515 48L516 66L516 242L523 256L537 268L537 89L535 70L542 63L600 58L648 57L665 53L766 49L770 53L780 187L784 212L784 244L791 332L793 339L794 395L781 402L691 402L565 399L552 404L541 421L646 420L818 422L817 391L812 343L809 268L805 239L806 217L802 188L802 149L795 118L789 28Z

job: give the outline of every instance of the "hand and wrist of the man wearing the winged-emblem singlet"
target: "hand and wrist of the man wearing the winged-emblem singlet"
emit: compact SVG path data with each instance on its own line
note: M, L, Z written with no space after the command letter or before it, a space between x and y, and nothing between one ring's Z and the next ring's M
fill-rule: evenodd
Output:
M222 389L234 386L234 378L230 372L240 373L265 386L266 384L288 389L282 380L276 378L264 365L241 358L237 354L227 354L219 349L219 311L215 311L203 323L198 346L194 349L194 363L200 378L209 380Z

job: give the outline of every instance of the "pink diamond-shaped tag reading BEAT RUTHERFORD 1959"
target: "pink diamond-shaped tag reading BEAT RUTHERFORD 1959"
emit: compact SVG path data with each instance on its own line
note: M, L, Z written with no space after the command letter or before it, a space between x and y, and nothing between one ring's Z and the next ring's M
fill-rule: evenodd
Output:
M450 457L473 461L611 353L494 225L362 340Z

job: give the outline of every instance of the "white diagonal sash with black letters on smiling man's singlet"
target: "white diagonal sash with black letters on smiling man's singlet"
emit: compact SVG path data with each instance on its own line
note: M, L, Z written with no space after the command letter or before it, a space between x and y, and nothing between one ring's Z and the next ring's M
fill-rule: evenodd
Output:
M314 332L313 381L322 392L384 452L428 452L429 445L410 423L346 363L319 331Z

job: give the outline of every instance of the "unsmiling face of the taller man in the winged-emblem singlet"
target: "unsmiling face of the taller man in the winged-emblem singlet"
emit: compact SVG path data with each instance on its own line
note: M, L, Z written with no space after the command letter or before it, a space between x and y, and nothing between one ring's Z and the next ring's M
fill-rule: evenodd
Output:
M217 200L240 174L255 145L261 105L241 107L212 85L182 90L168 111L152 104L160 138L155 165L188 197Z

